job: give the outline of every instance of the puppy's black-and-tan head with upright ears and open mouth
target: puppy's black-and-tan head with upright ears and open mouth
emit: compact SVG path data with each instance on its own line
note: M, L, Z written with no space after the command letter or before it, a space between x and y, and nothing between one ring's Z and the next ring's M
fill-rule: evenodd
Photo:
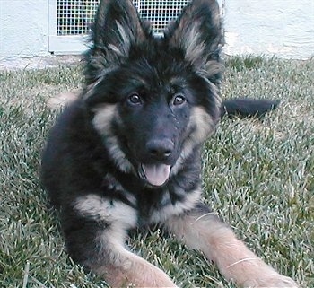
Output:
M119 170L160 187L219 118L222 27L214 0L194 0L155 37L129 0L102 0L84 101Z

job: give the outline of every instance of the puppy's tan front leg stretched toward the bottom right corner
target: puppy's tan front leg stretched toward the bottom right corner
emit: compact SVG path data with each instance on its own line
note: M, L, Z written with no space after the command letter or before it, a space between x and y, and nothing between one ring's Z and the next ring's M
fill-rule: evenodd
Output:
M291 278L278 274L251 252L205 205L172 217L166 227L190 248L202 250L222 275L240 286L298 287Z

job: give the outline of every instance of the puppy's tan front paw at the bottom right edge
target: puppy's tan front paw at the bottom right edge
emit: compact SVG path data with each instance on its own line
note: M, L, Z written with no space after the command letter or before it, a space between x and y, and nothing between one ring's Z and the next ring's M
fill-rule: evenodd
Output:
M245 288L299 288L292 278L283 275L266 275L263 278L249 280L244 284Z

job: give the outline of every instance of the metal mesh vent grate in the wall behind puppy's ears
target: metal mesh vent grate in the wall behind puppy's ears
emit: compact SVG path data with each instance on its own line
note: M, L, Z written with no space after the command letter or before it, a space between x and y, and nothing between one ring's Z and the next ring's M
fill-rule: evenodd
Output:
M161 33L175 19L189 0L134 0L141 17L152 22L153 31ZM99 0L57 0L57 35L88 33Z

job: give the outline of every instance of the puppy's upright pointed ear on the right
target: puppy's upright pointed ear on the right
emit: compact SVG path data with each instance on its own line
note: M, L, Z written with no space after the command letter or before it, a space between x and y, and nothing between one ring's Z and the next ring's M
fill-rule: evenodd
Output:
M196 70L207 70L208 65L219 61L222 47L222 17L217 2L192 0L165 31L165 39L171 48L179 48Z

